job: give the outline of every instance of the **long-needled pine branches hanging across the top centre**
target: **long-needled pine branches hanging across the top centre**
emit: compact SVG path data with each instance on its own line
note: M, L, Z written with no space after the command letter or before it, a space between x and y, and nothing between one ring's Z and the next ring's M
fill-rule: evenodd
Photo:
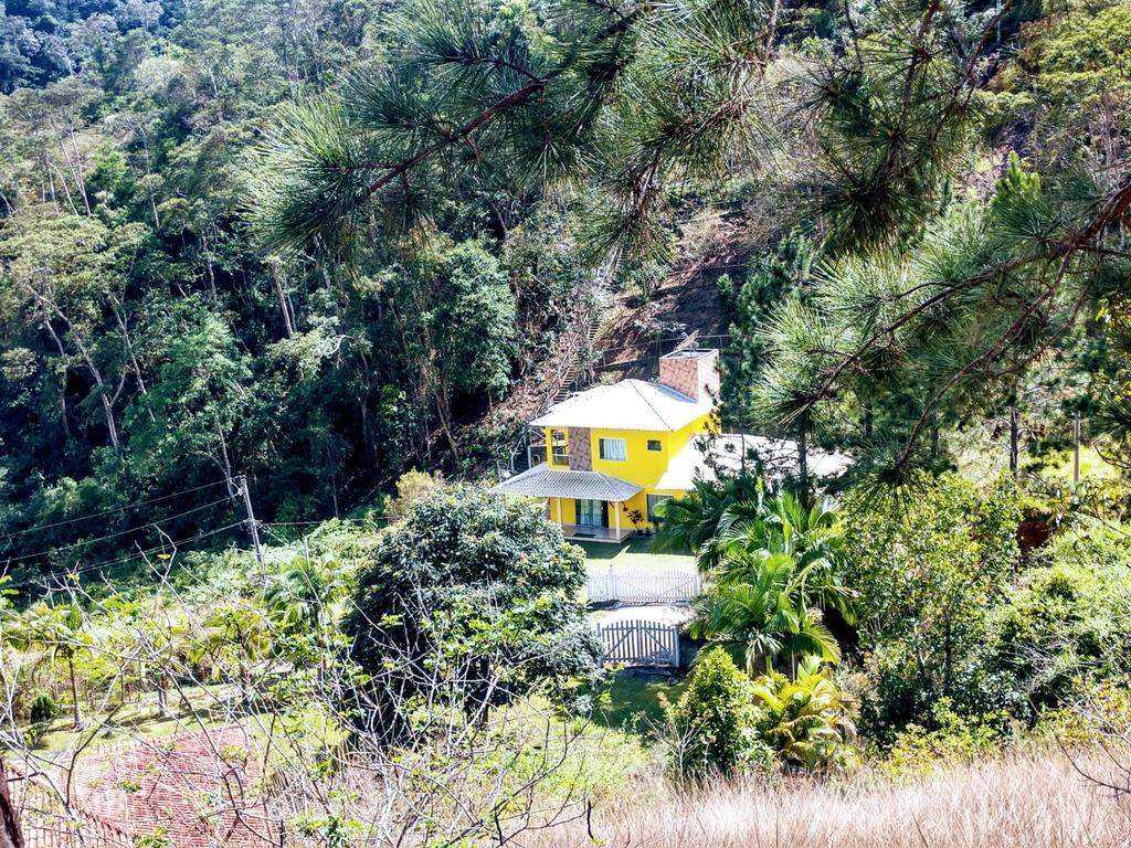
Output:
M279 249L348 257L372 224L428 219L485 165L518 189L590 178L590 251L657 251L665 189L719 175L758 135L770 18L763 3L701 0L406 5L385 72L285 110L269 132L258 230Z

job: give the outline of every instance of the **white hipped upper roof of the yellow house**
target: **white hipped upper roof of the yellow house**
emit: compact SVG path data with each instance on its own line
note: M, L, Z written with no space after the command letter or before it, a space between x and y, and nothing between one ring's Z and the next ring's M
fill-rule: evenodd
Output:
M566 398L530 424L536 427L675 431L713 408L709 398L694 400L659 383L621 380Z

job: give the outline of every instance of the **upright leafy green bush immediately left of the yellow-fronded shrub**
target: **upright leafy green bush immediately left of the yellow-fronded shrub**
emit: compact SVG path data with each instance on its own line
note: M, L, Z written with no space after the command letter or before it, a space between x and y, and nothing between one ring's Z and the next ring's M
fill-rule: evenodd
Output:
M753 684L722 648L700 655L687 692L666 706L670 768L681 780L735 775L768 768L772 758L761 744Z

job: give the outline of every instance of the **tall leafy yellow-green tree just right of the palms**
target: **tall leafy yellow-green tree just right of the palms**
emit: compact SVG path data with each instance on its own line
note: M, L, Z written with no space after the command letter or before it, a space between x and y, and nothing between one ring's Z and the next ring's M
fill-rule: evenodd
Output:
M1018 568L1013 486L986 492L955 475L845 509L845 582L857 592L872 689L862 727L881 741L951 699L961 715L1016 706L990 661L992 609Z

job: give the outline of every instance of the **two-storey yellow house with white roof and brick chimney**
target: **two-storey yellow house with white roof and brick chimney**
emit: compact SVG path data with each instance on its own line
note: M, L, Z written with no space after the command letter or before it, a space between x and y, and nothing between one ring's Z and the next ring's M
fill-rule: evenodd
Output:
M663 356L657 382L597 386L532 421L546 461L497 491L546 499L569 538L622 542L692 487L717 396L717 351Z

